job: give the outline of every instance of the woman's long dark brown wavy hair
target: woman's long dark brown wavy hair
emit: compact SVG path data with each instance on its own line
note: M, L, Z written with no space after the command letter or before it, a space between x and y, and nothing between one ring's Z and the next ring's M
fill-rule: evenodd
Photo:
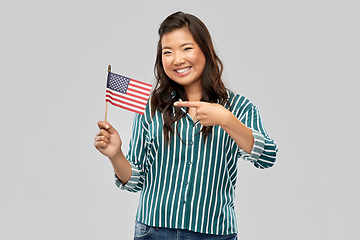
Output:
M173 123L186 115L182 113L180 107L175 107L173 113L173 103L180 98L188 101L186 92L182 85L171 80L165 73L162 63L162 37L174 30L187 28L193 36L196 43L205 55L206 63L201 76L202 98L201 101L210 103L220 103L225 105L227 102L227 93L224 83L221 80L223 64L215 53L210 33L205 24L191 14L176 12L168 16L160 25L158 30L159 41L157 45L157 56L154 66L156 78L155 88L151 95L152 115L156 110L163 113L163 132L165 141L170 141L170 134L174 132ZM188 109L187 109L188 110ZM211 132L212 127L203 127L201 131L204 134L204 140ZM177 131L177 130L176 130Z

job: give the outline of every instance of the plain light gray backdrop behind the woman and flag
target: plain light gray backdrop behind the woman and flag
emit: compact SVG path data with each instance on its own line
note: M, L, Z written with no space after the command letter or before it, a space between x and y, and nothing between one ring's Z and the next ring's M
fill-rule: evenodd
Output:
M93 147L107 67L152 82L177 10L205 22L225 82L279 145L272 169L239 162L239 239L360 239L358 1L235 2L1 4L1 239L132 238L139 195ZM108 119L127 152L133 113Z

